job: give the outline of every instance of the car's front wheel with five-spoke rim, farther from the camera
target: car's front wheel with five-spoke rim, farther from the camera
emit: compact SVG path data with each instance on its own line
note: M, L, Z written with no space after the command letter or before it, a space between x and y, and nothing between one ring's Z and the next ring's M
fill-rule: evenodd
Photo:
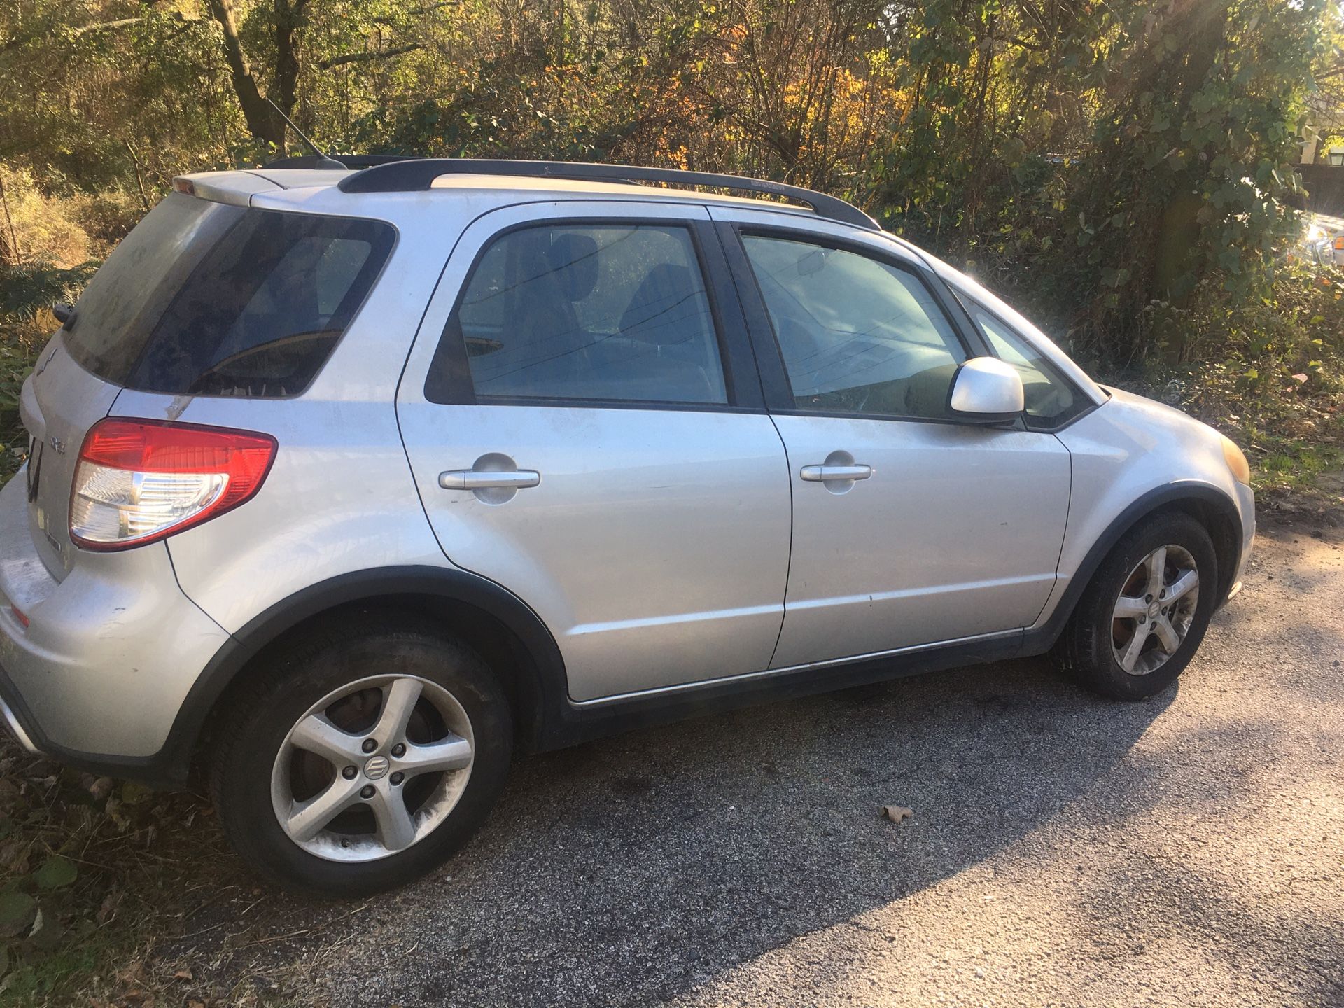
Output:
M1102 560L1055 659L1103 696L1156 696L1195 656L1216 589L1218 554L1199 521L1181 512L1145 519Z

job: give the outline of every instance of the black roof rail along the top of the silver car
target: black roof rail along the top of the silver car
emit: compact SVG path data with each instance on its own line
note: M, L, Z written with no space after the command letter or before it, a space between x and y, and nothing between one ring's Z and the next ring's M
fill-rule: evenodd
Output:
M356 161L358 159L343 159ZM351 165L355 167L355 165ZM340 180L341 192L418 192L429 190L441 175L504 175L528 179L573 179L579 181L661 181L675 185L708 185L720 190L785 196L805 203L817 216L839 220L868 231L878 223L851 203L801 185L769 179L746 179L715 172L685 172L677 168L634 168L620 164L581 161L507 161L472 157L423 157L387 161L364 168Z

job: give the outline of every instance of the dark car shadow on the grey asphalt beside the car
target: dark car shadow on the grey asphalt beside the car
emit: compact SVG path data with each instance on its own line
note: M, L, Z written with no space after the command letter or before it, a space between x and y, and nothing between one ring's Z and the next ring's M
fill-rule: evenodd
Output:
M1176 696L1042 659L520 758L441 872L362 915L340 1004L664 1000L976 866L1105 778ZM914 809L891 823L883 805ZM355 952L353 948L349 952ZM383 964L383 965L379 965Z

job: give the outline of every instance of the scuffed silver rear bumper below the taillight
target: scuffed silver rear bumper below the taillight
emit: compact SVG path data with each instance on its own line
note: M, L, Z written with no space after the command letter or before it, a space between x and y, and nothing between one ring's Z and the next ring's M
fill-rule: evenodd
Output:
M58 578L34 546L22 474L0 491L0 719L26 749L161 775L183 702L228 641L181 593L163 543L75 554Z

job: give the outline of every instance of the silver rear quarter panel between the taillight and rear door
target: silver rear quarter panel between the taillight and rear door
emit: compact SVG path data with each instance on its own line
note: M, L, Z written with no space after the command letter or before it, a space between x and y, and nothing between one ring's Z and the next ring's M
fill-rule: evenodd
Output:
M313 384L290 399L124 391L113 415L257 430L274 465L242 507L167 539L183 591L230 633L305 587L392 564L449 566L411 480L396 384L472 200L288 194L286 210L390 220L398 241L368 300ZM301 195L301 194L300 194ZM255 198L263 206L262 198ZM296 207L296 203L298 207ZM358 211L358 212L356 212Z

